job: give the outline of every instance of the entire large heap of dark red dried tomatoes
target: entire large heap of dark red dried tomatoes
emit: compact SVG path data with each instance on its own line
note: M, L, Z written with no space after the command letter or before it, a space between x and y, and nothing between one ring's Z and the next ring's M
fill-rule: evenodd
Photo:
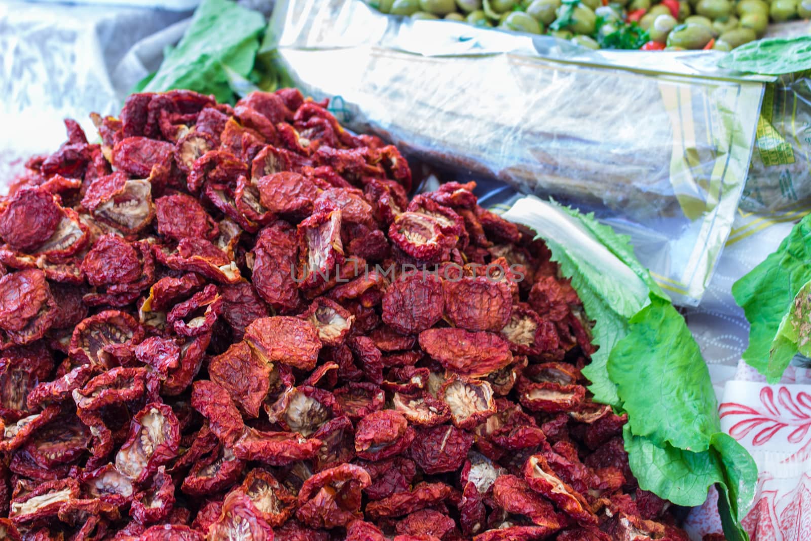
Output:
M284 89L135 94L0 206L6 539L687 539L577 294Z

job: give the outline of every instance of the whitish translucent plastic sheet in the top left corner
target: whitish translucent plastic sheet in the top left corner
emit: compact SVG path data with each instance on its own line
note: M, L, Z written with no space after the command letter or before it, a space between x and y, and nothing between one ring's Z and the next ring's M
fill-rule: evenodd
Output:
M96 130L91 111L117 113L109 72L135 41L188 12L125 6L0 3L0 193L24 160L65 140L62 118Z

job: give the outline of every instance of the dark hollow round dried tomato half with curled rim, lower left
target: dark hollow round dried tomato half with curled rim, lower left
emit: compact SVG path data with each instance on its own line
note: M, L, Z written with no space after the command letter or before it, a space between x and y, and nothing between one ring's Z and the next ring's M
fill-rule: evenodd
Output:
M101 311L76 325L69 350L71 359L97 367L129 363L144 334L144 328L126 312Z

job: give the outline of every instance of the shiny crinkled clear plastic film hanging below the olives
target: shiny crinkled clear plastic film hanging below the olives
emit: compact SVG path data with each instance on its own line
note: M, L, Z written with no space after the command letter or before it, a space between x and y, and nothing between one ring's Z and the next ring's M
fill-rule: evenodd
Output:
M594 210L697 304L749 167L764 81L718 53L586 51L547 36L280 2L265 50L286 83L423 160Z

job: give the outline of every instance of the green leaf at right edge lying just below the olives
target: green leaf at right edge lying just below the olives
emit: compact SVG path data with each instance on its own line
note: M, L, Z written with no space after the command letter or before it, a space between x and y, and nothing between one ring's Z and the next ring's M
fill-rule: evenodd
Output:
M718 65L762 75L811 70L811 36L751 41L723 55Z

